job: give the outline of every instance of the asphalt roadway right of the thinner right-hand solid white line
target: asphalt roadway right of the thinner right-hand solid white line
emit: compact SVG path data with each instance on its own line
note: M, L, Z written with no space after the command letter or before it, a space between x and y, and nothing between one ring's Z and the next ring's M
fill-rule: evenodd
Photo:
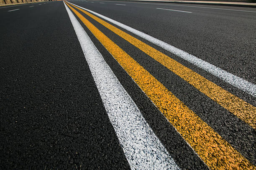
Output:
M108 15L109 18L120 21L125 25L132 25L137 30L148 32L150 35L154 35L153 37L163 40L174 47L178 47L250 82L255 82L256 76L246 73L248 69L251 69L248 65L255 62L255 58L251 57L250 60L244 60L244 57L255 56L255 53L253 53L255 52L255 47L253 46L255 39L251 36L255 35L253 29L255 13L189 6L170 6L166 3L163 5L150 5L146 3L144 5L143 3L123 2L123 4L126 4L123 7L115 5L115 2L105 2L105 4L99 5L95 3L87 2L87 5L97 6L95 12L100 12L100 9L102 10L102 15ZM208 7L208 5L204 7ZM210 7L216 6L210 5ZM104 8L116 10L120 15L105 12ZM168 8L192 13L178 13L158 10L156 8ZM256 11L253 8L243 7L222 8ZM143 13L141 13L142 10ZM137 19L133 21L132 18L134 17ZM152 23L152 20L157 22ZM144 28L144 24L151 26ZM171 25L172 27L170 27ZM168 36L165 36L166 32L168 32ZM216 35L216 32L218 32L219 36ZM173 38L170 39L169 37ZM183 41L181 42L179 39ZM245 45L248 45L249 50L240 50L244 49ZM195 48L200 48L200 50L195 51ZM218 62L213 59L215 56L219 57ZM226 60L224 56L229 57L230 60ZM234 63L238 66L237 68L228 68L228 65L234 65Z

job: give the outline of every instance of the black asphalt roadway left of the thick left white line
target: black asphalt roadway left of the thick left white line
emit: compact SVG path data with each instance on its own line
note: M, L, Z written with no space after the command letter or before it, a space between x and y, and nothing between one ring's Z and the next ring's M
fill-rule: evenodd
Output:
M63 2L2 14L1 168L128 169Z

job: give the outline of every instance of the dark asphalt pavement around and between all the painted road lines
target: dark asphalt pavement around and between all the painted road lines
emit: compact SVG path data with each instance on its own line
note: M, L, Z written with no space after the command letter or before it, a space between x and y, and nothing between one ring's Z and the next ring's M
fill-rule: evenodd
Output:
M103 0L69 2L256 84L256 9ZM256 166L255 129L129 42L81 14ZM0 16L1 169L130 169L64 3L0 7ZM209 169L90 30L80 20L79 23L179 168ZM256 106L256 97L116 27Z

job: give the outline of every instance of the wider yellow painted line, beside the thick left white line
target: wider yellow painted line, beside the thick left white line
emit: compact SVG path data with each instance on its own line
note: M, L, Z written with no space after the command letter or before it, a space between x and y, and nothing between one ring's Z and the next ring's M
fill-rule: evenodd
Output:
M118 45L98 30L68 3L69 8L102 43L123 69L133 78L182 137L212 169L255 170L246 158L203 122L192 110L138 64Z

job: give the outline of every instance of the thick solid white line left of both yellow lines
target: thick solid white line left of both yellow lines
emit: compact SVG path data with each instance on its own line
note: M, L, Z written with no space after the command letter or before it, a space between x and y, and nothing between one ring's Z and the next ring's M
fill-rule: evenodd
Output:
M131 169L179 170L90 37L64 5Z

